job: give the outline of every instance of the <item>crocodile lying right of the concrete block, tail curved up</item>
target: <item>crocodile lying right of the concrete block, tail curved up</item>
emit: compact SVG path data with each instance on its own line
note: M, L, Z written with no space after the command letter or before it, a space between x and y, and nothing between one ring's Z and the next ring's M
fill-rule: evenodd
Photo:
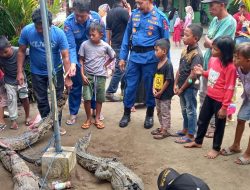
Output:
M142 180L116 158L97 157L87 152L91 133L76 142L77 162L100 180L111 182L114 190L143 190Z

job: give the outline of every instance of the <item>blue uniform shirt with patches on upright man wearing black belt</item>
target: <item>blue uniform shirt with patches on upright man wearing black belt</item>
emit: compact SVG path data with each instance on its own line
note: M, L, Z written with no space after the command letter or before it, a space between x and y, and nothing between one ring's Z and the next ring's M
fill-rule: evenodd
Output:
M145 14L139 9L134 9L124 33L120 59L127 60L129 45L132 47L150 47L155 45L156 40L161 38L169 39L168 25L169 23L165 14L156 7ZM129 60L140 64L156 63L159 61L155 56L154 50L145 53L131 51Z

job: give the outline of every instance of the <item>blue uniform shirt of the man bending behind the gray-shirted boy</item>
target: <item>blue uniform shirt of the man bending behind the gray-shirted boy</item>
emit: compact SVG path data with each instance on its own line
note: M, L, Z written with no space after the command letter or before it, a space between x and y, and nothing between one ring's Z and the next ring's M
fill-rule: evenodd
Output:
M92 22L101 22L101 17L97 12L90 11L88 20L83 24L77 23L74 13L69 15L65 20L64 32L67 36L67 40L69 43L69 54L71 63L79 64L78 51L82 42L89 39L89 26ZM103 34L103 40L106 40L105 28L103 28Z

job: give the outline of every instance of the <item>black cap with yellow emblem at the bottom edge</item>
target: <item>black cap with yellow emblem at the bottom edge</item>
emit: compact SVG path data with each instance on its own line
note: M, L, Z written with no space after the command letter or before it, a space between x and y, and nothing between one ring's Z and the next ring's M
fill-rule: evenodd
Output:
M159 190L209 190L208 185L191 174L179 174L172 168L163 170L158 177Z

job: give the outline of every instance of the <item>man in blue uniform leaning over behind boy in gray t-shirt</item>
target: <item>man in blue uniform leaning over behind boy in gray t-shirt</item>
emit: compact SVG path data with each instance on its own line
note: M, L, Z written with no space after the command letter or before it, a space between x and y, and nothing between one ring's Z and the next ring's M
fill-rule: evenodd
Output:
M68 125L75 123L76 115L81 105L82 77L80 73L81 66L78 62L78 51L82 42L89 39L90 24L92 22L101 22L98 13L90 11L89 1L75 0L73 2L73 10L74 12L64 22L64 32L69 43L71 68L75 71L75 76L72 77L73 87L69 94L70 119L66 122ZM104 35L105 38L106 35ZM92 108L95 109L93 102Z

